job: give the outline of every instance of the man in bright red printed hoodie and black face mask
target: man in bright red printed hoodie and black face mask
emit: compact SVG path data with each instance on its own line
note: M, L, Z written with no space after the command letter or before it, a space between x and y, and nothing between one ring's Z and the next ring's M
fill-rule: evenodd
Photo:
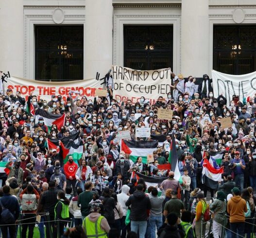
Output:
M73 161L72 156L68 156L68 162L64 165L64 174L67 179L67 186L73 188L74 196L76 196L76 171L78 169L77 163Z

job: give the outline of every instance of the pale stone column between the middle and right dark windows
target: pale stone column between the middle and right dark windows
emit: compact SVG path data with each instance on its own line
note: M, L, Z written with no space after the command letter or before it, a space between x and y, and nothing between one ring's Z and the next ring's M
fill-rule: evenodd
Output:
M209 37L212 36L209 36L208 13L208 0L182 0L180 73L184 77L210 74Z

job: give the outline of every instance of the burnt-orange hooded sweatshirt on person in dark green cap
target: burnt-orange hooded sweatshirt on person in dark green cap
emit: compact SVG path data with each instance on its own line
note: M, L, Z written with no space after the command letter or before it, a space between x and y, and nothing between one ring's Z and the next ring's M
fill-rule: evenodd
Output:
M230 214L230 222L244 222L244 213L247 212L247 206L244 199L240 196L234 196L227 202L227 213Z

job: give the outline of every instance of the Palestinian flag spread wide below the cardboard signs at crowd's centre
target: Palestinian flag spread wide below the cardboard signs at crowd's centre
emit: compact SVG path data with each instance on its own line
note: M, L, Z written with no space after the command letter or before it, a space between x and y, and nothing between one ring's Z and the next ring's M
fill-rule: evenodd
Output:
M121 149L125 154L130 155L130 159L135 162L137 158L142 157L142 163L146 164L147 156L153 154L156 150L157 141L126 141L121 140Z

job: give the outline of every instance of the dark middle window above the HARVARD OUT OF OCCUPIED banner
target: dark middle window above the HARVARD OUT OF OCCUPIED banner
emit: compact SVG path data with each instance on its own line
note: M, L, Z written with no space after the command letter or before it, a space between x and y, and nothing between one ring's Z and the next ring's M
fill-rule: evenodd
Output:
M124 66L172 69L172 26L124 26Z

